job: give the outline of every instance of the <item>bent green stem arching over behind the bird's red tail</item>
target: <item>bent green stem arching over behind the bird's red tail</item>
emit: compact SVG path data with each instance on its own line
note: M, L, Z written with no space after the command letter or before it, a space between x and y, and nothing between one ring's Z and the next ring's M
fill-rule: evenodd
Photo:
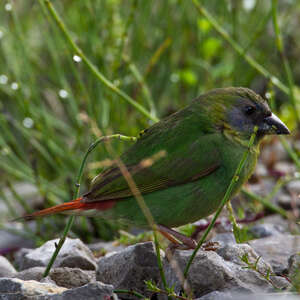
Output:
M122 140L122 141L135 141L136 140L136 137L132 137L132 136L124 136L124 135L121 135L121 134L113 134L113 135L108 135L108 136L102 136L100 137L99 139L97 139L94 143L92 143L90 145L90 147L88 148L88 150L86 151L84 157L83 157L83 160L81 162L81 165L80 165L80 168L79 168L79 172L78 172L78 175L77 175L77 179L76 179L76 183L75 183L75 193L74 193L74 199L78 198L79 196L79 191L80 191L80 182L81 182L81 178L82 178L82 175L83 175L83 169L85 167L85 164L86 164L86 161L87 161L87 158L89 156L89 154L102 142L105 142L105 141L108 141L110 139L119 139L119 140ZM47 277L50 270L51 270L51 267L52 265L54 264L55 260L56 260L56 257L60 251L60 249L62 248L66 238L67 238L67 235L74 223L74 220L75 220L75 216L71 216L67 222L67 225L65 226L65 229L63 231L63 234L62 234L62 237L60 238L58 244L55 244L55 251L53 252L53 255L47 265L47 268L43 274L44 277Z

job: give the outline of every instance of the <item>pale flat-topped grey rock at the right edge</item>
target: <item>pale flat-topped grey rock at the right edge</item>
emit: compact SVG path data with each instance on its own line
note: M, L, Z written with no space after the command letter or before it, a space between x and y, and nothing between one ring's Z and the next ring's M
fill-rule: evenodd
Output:
M300 251L300 236L281 234L249 241L249 245L267 261L276 274L287 273L288 258Z

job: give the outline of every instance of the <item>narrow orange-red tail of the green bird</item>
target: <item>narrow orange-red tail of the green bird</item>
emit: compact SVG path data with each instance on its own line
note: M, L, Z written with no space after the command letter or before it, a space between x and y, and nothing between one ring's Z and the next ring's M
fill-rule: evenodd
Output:
M66 202L63 204L55 205L53 207L42 209L40 211L36 211L32 214L25 215L23 217L15 219L15 220L19 220L19 219L30 220L30 219L34 219L36 217L43 217L43 216L53 215L56 213L61 213L66 210L82 209L82 208L84 208L85 203L81 202L81 200L82 200L82 197L72 200L70 202Z

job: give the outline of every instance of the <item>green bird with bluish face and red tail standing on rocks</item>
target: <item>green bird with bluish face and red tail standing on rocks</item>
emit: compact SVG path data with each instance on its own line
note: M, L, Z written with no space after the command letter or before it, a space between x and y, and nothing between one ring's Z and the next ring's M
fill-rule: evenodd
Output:
M247 88L220 88L144 130L120 156L159 230L193 248L195 243L170 229L217 210L246 151L257 135L232 195L254 170L265 135L289 134L267 102ZM231 195L231 196L232 196ZM82 197L25 218L68 212L148 226L135 192L118 164L100 173Z

